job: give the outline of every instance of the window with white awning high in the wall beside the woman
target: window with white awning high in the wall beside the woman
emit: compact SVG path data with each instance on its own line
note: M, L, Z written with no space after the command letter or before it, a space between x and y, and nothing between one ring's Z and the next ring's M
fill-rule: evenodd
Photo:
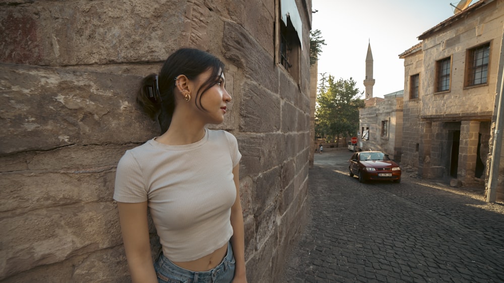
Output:
M294 0L281 0L278 15L278 64L300 81L300 54L302 22Z

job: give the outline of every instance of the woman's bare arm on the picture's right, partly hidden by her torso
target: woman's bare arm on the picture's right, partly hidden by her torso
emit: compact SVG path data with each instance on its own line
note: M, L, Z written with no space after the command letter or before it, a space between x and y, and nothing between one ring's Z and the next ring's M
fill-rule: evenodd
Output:
M231 226L233 226L233 236L231 237L231 246L233 247L234 260L236 262L234 270L233 283L246 282L245 270L245 240L243 232L243 211L240 202L240 173L239 167L233 168L233 179L236 185L236 200L231 207Z

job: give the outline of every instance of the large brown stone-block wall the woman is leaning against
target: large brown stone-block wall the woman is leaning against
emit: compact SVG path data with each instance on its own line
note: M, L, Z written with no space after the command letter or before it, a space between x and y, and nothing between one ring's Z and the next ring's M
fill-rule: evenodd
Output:
M115 167L159 135L140 79L182 46L226 64L249 282L306 219L311 0L24 1L0 9L0 281L128 282ZM159 251L151 225L153 256Z

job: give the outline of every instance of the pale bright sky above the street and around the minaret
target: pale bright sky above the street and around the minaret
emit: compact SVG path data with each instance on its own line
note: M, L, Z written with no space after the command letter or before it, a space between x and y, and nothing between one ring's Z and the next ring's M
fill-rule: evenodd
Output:
M476 3L473 0L471 4ZM404 89L404 59L399 54L420 41L418 36L454 15L458 0L312 0L312 30L326 45L318 73L353 78L365 89L367 45L373 55L373 97ZM364 98L364 95L362 95Z

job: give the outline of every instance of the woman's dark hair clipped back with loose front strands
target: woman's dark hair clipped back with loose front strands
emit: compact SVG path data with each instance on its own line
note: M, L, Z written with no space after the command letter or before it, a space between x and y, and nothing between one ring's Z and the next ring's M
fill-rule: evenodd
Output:
M201 105L201 97L205 91L217 83L224 70L224 63L212 54L195 48L178 49L166 59L157 81L160 97L155 95L153 97L153 92L155 92L153 89L157 87L156 74L146 76L137 93L137 103L152 120L157 118L161 131L164 133L170 126L175 110L173 94L175 78L178 75L185 75L188 79L193 80L209 69L212 70L212 74L196 91L194 98L196 106L206 111Z

